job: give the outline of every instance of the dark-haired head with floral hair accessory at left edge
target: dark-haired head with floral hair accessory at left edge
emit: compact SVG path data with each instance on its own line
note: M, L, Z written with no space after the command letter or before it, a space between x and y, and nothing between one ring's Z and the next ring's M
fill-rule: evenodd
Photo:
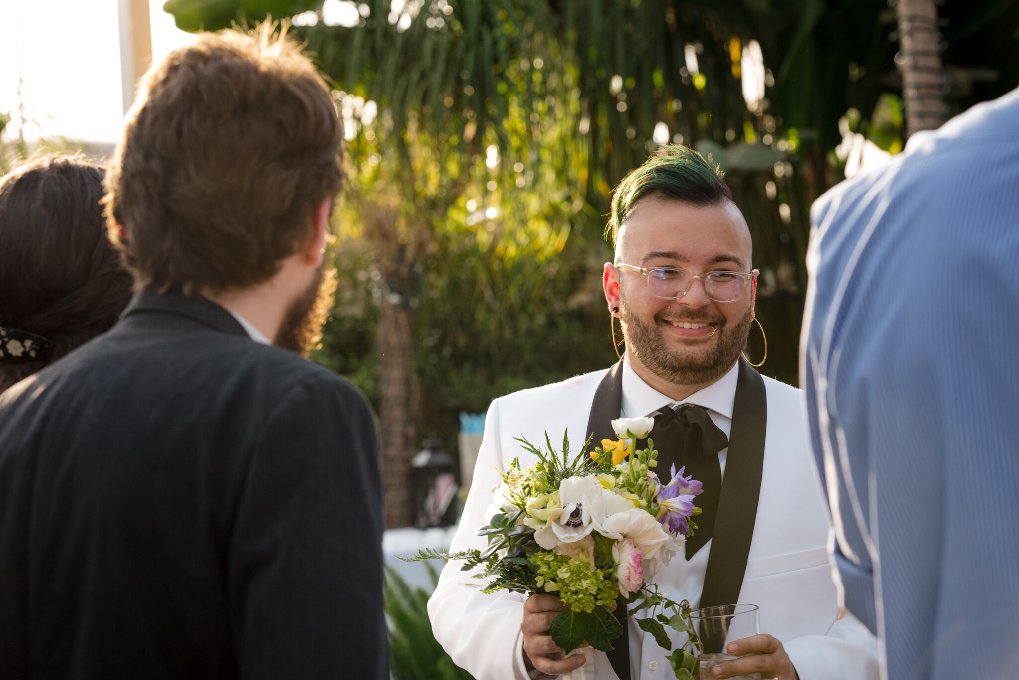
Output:
M103 174L48 155L0 177L0 393L109 330L130 300Z

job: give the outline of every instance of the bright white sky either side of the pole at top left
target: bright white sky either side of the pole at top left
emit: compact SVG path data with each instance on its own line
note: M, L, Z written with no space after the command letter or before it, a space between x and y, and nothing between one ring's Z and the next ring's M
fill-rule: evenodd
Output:
M189 43L165 0L149 0L153 59ZM26 138L111 143L124 106L117 0L0 0L0 113ZM21 96L18 97L18 82Z

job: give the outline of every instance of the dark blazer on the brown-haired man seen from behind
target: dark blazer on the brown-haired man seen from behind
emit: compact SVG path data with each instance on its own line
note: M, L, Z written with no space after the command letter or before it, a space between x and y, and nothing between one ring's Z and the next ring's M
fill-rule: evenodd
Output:
M388 678L375 426L204 298L0 397L0 679Z

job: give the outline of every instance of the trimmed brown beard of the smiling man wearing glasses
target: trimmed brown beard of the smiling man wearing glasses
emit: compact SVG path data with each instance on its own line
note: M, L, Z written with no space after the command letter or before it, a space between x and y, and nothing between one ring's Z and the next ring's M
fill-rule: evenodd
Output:
M704 314L697 314L695 317L693 313L681 313L679 316L671 314L669 318L673 321L681 321L685 316L690 320L705 320ZM658 312L654 315L654 325L644 323L636 315L627 314L626 299L620 297L623 336L634 355L663 380L676 384L705 384L714 382L725 375L740 357L750 335L753 310L748 309L746 316L737 321L732 328L727 327L726 318L721 315L708 318L709 322L716 324L715 332L718 338L714 347L701 356L671 349L658 328L659 324L664 323L662 318L663 312Z

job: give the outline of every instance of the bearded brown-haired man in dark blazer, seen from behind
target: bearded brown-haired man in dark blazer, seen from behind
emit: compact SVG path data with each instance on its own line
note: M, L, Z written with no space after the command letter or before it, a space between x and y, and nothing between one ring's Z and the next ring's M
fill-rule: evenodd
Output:
M388 677L375 425L298 354L342 140L268 24L143 79L106 177L140 290L0 397L0 677Z

